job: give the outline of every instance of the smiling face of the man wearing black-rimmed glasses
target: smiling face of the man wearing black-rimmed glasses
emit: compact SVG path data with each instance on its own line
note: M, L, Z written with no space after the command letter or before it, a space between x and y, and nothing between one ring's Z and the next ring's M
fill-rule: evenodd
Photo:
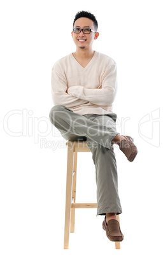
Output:
M74 22L74 28L80 28L80 29L92 29L95 31L94 28L94 22L93 20L90 20L90 18L78 18ZM90 34L83 34L83 31L80 32L80 34L75 34L73 31L71 32L71 35L73 37L74 43L76 47L79 47L81 49L84 48L92 48L92 44L94 42L94 39L97 39L99 36L98 32L90 32Z

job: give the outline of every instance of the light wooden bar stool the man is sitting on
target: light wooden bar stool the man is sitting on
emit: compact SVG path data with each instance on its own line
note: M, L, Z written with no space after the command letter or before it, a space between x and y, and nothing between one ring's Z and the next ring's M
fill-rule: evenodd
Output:
M97 203L76 203L76 169L77 153L90 152L87 142L67 141L67 181L66 181L66 210L64 225L64 249L69 248L69 231L74 232L75 208L97 208ZM71 220L71 222L70 222ZM117 215L119 220L119 215ZM120 242L115 242L115 248L120 249Z

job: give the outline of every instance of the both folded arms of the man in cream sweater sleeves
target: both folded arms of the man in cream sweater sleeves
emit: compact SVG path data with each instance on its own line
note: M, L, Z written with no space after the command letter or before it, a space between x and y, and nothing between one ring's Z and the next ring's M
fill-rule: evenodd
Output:
M116 92L116 64L106 68L98 89L87 89L81 85L67 87L66 77L55 69L52 71L52 97L54 104L66 104L67 108L86 103L105 106L113 103Z

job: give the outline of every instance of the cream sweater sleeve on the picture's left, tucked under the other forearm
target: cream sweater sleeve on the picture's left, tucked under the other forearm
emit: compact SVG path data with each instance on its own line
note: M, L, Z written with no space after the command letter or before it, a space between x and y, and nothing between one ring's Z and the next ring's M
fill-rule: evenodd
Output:
M88 101L78 99L75 96L70 96L67 94L67 80L59 69L52 69L52 79L51 79L52 87L52 101L54 105L64 105L67 108L73 108L78 106L79 104L88 103Z

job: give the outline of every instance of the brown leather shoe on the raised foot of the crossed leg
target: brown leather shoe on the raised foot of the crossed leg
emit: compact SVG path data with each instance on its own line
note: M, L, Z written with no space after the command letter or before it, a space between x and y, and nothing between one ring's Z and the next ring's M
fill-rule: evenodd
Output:
M125 154L127 159L132 162L135 159L138 150L136 148L136 145L134 145L133 143L134 139L132 139L130 136L124 136L124 138L127 140L123 139L122 141L120 141L120 150Z

